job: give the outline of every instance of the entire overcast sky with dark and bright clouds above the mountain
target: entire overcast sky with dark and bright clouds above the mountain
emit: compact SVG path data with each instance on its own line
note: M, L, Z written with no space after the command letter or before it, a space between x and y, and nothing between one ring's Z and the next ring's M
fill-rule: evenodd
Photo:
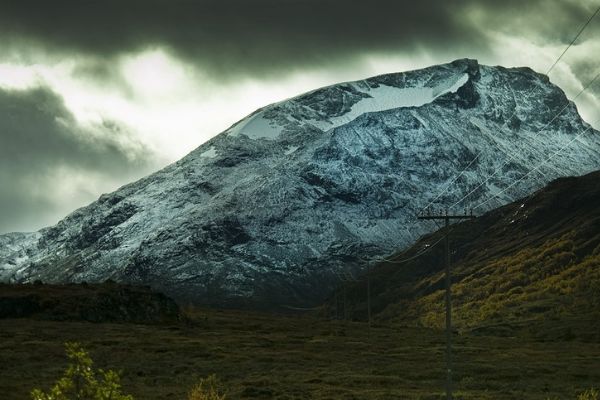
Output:
M458 58L545 73L600 0L0 3L0 233L181 158L266 104ZM600 16L553 69L598 72ZM577 101L595 127L600 85Z

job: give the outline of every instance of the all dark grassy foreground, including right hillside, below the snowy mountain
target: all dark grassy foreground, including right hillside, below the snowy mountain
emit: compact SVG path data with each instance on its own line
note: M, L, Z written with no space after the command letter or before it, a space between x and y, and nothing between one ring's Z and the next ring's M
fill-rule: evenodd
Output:
M450 228L456 399L566 400L600 387L599 183L600 172L560 179ZM137 400L185 399L213 373L227 399L443 399L445 233L341 286L315 315L181 315L148 288L114 283L0 285L0 400L48 388L67 341L122 370ZM364 321L368 304L371 330L329 319Z

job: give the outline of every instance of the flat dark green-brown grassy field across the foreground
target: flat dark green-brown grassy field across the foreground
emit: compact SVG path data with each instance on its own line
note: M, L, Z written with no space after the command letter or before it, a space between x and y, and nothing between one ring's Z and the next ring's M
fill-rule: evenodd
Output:
M27 399L79 341L136 399L184 399L217 374L228 399L442 399L443 332L200 310L193 324L0 320L0 398ZM574 399L600 385L600 343L455 336L457 399Z

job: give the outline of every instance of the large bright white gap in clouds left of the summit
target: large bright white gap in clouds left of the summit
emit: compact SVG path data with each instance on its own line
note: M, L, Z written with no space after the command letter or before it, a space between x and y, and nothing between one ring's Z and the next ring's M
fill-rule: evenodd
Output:
M174 161L265 105L338 83L375 74L358 70L304 71L278 81L243 78L223 84L161 48L121 56L106 84L77 71L86 60L46 64L0 64L0 86L15 90L48 86L88 133L116 122L165 162ZM379 71L377 71L379 72ZM127 136L124 135L124 141ZM123 143L124 147L131 143Z

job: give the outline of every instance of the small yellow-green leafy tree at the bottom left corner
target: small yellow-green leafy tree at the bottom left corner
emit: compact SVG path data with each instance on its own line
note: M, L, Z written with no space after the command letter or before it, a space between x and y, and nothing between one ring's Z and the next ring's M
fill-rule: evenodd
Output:
M79 343L65 343L70 363L48 392L34 389L33 400L133 400L121 393L121 378L112 370L94 370L93 361Z

